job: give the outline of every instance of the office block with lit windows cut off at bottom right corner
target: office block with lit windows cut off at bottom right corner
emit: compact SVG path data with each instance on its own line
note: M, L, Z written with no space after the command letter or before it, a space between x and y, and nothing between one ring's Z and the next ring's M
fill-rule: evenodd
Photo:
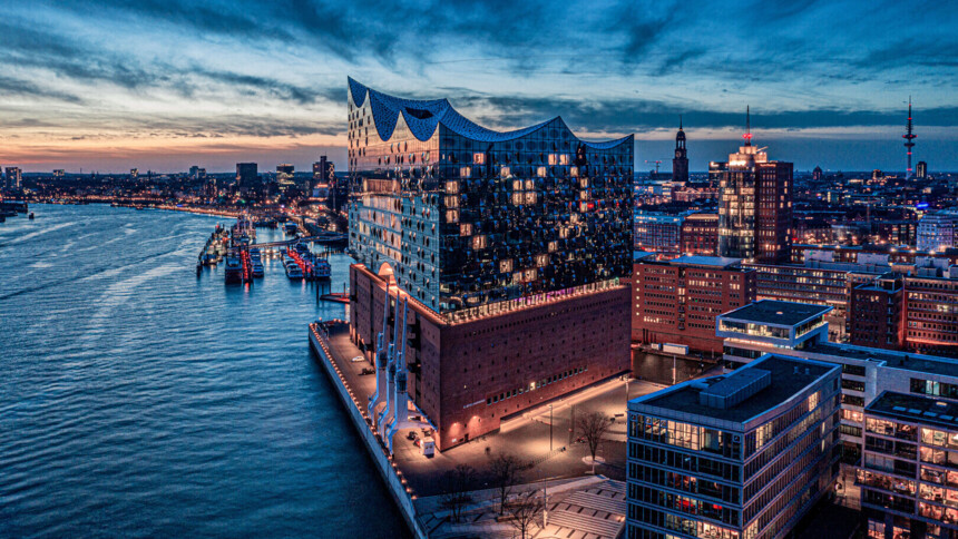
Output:
M864 409L869 538L958 537L958 403L915 393L886 391Z

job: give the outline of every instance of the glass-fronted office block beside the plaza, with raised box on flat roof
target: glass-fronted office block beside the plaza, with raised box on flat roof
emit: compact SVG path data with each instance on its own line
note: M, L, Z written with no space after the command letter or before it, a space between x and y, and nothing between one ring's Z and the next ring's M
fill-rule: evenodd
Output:
M626 537L785 537L838 474L840 375L765 355L629 401Z

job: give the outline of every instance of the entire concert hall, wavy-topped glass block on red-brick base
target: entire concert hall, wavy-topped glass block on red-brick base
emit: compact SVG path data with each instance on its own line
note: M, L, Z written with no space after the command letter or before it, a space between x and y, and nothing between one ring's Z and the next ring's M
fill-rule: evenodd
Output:
M351 337L371 356L409 300L409 396L439 450L628 369L633 159L633 136L493 131L349 80Z

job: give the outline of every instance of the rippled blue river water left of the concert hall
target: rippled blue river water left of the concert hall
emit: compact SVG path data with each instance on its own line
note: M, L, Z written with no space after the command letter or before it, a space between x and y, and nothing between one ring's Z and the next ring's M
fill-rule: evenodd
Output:
M0 224L0 537L407 536L309 352L343 305L277 259L197 277L225 217L30 209Z

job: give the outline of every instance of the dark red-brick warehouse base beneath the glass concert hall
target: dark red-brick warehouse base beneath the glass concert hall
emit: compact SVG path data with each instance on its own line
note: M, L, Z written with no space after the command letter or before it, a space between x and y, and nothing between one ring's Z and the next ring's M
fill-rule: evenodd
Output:
M384 277L350 267L350 336L372 357L382 330ZM390 287L391 305L397 290ZM467 322L410 302L409 394L437 427L442 451L515 415L629 367L625 285ZM394 307L393 307L394 308ZM388 326L392 333L394 312Z

